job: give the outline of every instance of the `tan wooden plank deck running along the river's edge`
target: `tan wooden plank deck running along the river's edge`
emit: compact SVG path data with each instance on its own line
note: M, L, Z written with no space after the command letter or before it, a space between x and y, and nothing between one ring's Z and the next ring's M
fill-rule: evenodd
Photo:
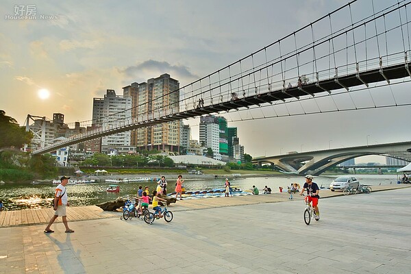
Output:
M393 190L397 188L408 188L411 185L395 184L390 186L373 186L373 192L382 190ZM343 195L343 192L332 192L323 190L320 193L321 198L335 197ZM366 194L361 194L366 195ZM293 195L295 199L302 199L299 195ZM247 195L236 197L219 197L207 199L186 199L172 203L169 210L185 211L185 210L201 210L206 208L221 208L226 206L243 206L256 203L277 203L282 201L292 201L288 199L290 195L287 192L273 193L271 195ZM52 208L41 208L36 210L10 210L0 212L0 227L12 227L16 225L39 225L48 223L53 216ZM86 221L95 219L106 219L120 217L121 212L103 211L97 206L81 206L68 207L68 221ZM62 219L58 218L57 223L61 223Z

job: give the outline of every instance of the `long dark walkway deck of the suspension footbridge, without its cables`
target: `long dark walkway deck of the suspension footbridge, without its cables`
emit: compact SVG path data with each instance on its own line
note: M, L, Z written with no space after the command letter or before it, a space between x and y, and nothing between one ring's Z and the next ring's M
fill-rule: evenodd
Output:
M408 66L411 63L403 63L403 64L395 64L390 66L385 66L381 69L370 69L369 71L364 71L360 73L351 73L348 75L344 75L341 77L333 77L331 79L321 79L319 82L310 82L303 86L293 86L292 88L287 88L286 90L283 89L275 89L275 90L263 90L263 92L258 92L255 95L245 95L245 97L232 99L230 101L223 101L219 103L212 103L211 105L206 105L201 108L193 108L190 110L183 110L171 114L171 115L163 115L155 117L153 116L151 119L147 119L146 121L140 121L136 123L131 123L127 125L121 125L120 127L116 127L110 130L103 130L101 132L90 132L86 134L82 134L74 139L65 140L63 142L59 142L53 145L49 145L47 147L36 149L32 151L33 154L42 154L54 151L55 149L59 149L61 147L66 147L69 145L77 144L78 142L84 142L86 140L92 140L96 138L100 138L103 136L108 136L112 134L116 134L118 132L125 132L132 129L138 129L142 127L147 127L151 125L158 125L161 123L168 123L171 121L177 121L181 119L189 119L194 118L197 116L205 115L205 114L214 114L219 112L225 112L233 109L240 109L240 108L249 108L251 105L260 105L262 103L271 103L273 101L285 100L290 99L292 97L301 97L304 95L312 95L314 96L316 93L325 92L326 90L331 92L332 90L338 90L340 88L350 88L353 86L360 86L365 83L371 84L375 82L382 82L386 81L386 79L399 79L403 77L410 76L408 75ZM383 75L383 74L384 75ZM362 81L361 81L361 80ZM218 100L217 100L218 101ZM153 114L154 115L154 114Z

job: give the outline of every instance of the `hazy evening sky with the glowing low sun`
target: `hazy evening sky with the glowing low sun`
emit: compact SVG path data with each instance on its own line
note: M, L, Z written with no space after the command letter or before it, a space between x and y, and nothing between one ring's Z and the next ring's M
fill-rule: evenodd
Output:
M354 16L369 14L371 0L358 2ZM21 125L27 114L51 119L54 112L64 114L66 123L87 121L92 118L92 99L103 97L107 89L122 95L123 86L163 73L185 86L345 3L1 1L0 109ZM35 5L35 19L7 17L27 12L29 5ZM401 38L393 38L394 43L396 39L401 44ZM391 95L407 101L404 92L409 89L410 84L404 83L366 92L381 101L393 101ZM351 98L339 102L345 100ZM260 112L271 115L270 110ZM245 152L255 157L402 142L411 136L410 106L238 122L234 113L225 116L229 126L238 127ZM198 139L198 119L188 123L192 138Z

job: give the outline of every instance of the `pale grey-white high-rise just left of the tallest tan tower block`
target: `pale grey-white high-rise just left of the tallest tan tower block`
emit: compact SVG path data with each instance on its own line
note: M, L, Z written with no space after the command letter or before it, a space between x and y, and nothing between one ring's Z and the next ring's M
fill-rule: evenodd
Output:
M114 90L107 90L104 98L94 98L92 104L93 125L96 127L115 127L120 121L132 116L132 98L116 95ZM121 132L101 138L101 152L108 153L133 151L130 143L131 133Z

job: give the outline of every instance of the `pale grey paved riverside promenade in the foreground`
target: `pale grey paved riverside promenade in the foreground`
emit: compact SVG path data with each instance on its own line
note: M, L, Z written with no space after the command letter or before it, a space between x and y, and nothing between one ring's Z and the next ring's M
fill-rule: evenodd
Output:
M0 228L0 273L409 273L411 188L375 191L386 187L322 191L334 197L320 199L311 225L302 197L288 193L177 201L171 223L109 212L89 221L68 213L73 234L62 223L53 234L9 225Z

